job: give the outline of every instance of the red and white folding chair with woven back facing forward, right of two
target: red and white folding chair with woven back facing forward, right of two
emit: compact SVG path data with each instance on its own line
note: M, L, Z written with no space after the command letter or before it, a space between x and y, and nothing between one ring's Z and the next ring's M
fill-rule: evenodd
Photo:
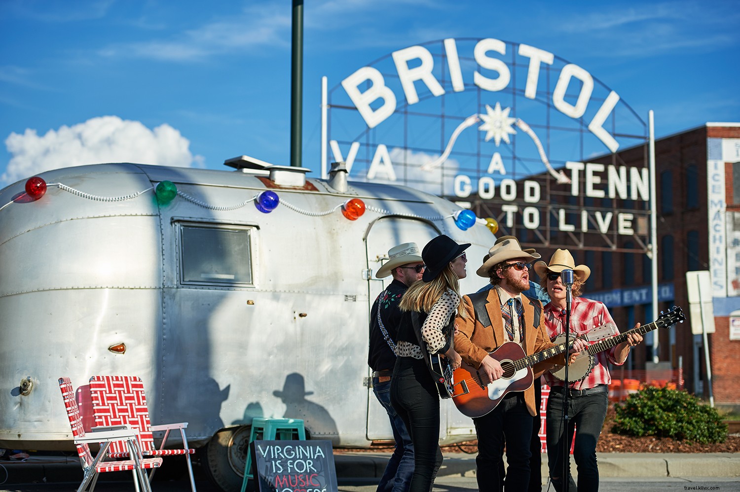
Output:
M147 396L144 394L144 383L135 376L93 376L90 378L90 396L92 397L92 411L95 414L95 425L129 425L138 431L138 442L144 456L185 456L190 487L195 492L195 479L192 476L190 455L195 449L188 448L185 428L187 422L166 425L151 425ZM182 448L165 449L169 431L179 429L182 437ZM164 437L159 448L155 447L152 432L164 431ZM112 442L111 456L129 456L124 442ZM154 476L154 470L149 479Z

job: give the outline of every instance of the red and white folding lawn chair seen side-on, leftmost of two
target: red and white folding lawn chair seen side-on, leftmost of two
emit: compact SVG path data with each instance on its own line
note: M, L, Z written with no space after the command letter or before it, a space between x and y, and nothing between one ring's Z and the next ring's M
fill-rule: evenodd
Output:
M135 477L138 479L134 481L136 490L138 491L141 485L144 491L151 492L152 488L149 487L149 480L144 469L150 468L153 470L158 468L162 459L143 458L141 456L141 449L135 439L138 433L132 428L118 427L112 430L92 431L90 434L85 434L84 428L82 428L80 409L75 400L75 390L70 378L60 377L59 388L61 389L61 397L64 399L64 407L67 408L67 417L70 419L77 454L80 456L80 463L84 472L82 483L77 492L86 490L88 485L90 485L90 492L92 492L98 482L98 474L107 471L134 471ZM100 451L95 456L92 456L90 451L90 442L100 443ZM122 443L124 448L127 449L128 456L131 456L132 459L104 461L104 459L111 457L108 451L112 442Z

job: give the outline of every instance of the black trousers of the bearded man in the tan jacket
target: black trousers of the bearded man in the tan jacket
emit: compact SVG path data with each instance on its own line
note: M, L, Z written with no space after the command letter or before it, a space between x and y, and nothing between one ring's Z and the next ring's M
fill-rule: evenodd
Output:
M501 491L499 463L504 439L508 468L503 480L508 492L526 491L529 485L531 459L532 416L524 395L517 391L506 395L489 414L473 419L478 435L478 456L475 459L478 490Z

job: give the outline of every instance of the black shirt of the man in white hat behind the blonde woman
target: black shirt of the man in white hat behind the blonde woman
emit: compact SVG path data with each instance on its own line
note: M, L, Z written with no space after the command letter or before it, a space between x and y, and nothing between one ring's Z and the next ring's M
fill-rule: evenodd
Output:
M370 310L370 349L368 354L368 365L373 371L392 370L396 364L396 354L388 346L388 342L383 336L383 330L377 323L378 307L380 305L380 317L383 320L388 332L388 337L392 343L398 339L398 326L401 323L401 310L398 305L401 297L408 287L399 280L393 280L388 288L384 291L383 298L380 296L375 300Z

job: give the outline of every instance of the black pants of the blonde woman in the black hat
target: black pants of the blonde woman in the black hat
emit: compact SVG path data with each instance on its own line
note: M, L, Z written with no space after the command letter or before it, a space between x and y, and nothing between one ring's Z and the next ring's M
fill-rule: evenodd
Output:
M398 357L391 379L391 405L414 443L409 492L429 492L442 465L440 395L423 360Z

